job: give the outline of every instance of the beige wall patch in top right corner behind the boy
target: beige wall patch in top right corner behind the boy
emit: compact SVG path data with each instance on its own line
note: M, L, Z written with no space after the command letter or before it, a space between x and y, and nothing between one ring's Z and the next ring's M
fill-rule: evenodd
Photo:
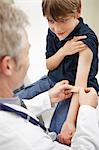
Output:
M82 16L99 38L99 0L82 0Z

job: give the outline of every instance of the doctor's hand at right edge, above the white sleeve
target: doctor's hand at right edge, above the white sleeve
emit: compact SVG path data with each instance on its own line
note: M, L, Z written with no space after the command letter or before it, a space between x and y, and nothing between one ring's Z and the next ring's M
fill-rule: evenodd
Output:
M94 88L81 88L79 90L79 104L90 105L94 108L98 105L98 95Z

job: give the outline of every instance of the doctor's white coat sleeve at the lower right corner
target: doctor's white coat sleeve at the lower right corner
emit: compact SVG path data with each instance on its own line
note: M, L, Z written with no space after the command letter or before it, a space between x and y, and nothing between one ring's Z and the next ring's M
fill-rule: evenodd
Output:
M79 109L77 129L72 139L71 148L73 150L99 150L98 138L99 124L97 111L91 106L83 105Z

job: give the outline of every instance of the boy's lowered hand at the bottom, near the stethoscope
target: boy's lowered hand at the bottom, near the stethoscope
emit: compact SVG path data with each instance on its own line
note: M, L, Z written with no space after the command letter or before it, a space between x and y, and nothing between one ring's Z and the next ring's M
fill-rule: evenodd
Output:
M73 123L64 122L61 132L58 134L58 141L62 144L70 145L74 133L75 125Z

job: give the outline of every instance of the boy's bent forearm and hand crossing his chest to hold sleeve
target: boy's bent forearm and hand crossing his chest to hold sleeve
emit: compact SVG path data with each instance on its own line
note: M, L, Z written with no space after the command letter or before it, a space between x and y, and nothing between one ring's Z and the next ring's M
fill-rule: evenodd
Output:
M61 47L54 55L46 59L47 69L50 71L54 70L60 65L65 56L73 55L77 52L85 50L86 45L80 41L85 38L86 36L77 36L72 40L67 41L65 45Z

